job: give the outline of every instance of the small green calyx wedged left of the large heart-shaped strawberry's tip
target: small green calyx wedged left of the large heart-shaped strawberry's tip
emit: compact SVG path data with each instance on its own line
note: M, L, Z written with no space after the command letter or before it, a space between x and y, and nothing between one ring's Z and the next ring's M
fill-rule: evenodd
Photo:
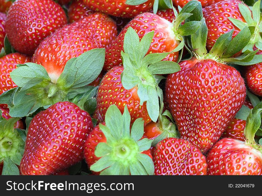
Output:
M168 110L163 112L163 107L164 103L162 102L158 117L158 127L162 133L153 140L152 146L155 146L158 142L165 138L179 138L180 136L176 129L171 113Z

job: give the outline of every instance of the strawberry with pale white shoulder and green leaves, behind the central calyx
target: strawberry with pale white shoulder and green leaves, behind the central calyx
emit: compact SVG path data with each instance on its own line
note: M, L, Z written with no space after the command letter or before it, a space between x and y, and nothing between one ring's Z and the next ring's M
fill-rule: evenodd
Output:
M180 26L180 23L184 20L185 16L189 17L192 15L186 13L186 11L191 12L191 10L194 10L198 6L198 1L188 3L177 15L174 23L153 13L143 13L136 16L121 31L110 47L106 49L104 70L108 71L114 66L122 65L121 51L124 49L124 36L129 27L132 27L138 33L140 39L146 33L154 31L154 38L147 54L169 52L170 54L164 60L176 62L178 60L178 51L183 48L184 41L182 36L190 35L199 28L198 21L190 21L184 24L185 26ZM183 28L188 25L191 27L190 31ZM178 47L180 43L181 45Z

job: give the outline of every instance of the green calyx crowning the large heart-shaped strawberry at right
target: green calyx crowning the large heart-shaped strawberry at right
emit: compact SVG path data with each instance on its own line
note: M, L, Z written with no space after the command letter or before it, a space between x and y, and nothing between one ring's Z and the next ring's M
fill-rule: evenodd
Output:
M208 28L205 23L205 18L201 19L199 29L187 37L187 42L191 48L194 56L198 60L213 59L215 61L224 63L230 62L238 65L253 65L262 62L262 55L256 55L258 50L245 50L251 39L251 32L248 26L244 26L242 30L232 39L234 29L228 33L224 33L216 40L216 43L209 51L206 50L206 42L208 36ZM242 50L242 55L232 57L234 54Z

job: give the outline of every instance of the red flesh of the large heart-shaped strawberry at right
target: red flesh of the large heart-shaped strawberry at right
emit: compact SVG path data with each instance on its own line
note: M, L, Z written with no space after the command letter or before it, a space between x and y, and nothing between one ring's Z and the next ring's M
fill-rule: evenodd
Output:
M181 61L180 67L166 80L170 112L181 138L207 152L244 104L244 80L235 68L210 59Z

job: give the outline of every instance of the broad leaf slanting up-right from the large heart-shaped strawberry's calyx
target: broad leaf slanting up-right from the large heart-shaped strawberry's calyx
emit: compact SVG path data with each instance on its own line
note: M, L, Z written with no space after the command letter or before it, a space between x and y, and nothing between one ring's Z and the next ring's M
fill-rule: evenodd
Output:
M249 42L251 38L250 31L247 26L245 26L237 35L234 37L227 47L222 58L229 58L234 54L241 51Z

